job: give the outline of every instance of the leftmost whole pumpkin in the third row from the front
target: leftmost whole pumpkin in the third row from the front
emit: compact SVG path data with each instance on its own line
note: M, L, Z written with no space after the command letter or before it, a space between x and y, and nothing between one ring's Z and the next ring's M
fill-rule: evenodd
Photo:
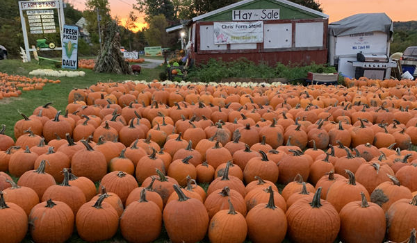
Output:
M24 151L17 151L10 156L8 170L15 177L22 176L24 172L33 170L38 153L32 153L28 146Z

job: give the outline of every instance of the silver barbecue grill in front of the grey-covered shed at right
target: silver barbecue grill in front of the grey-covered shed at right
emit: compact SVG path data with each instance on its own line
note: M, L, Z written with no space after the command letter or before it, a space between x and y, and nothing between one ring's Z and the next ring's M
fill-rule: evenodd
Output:
M385 54L380 53L357 53L357 61L352 61L355 67L355 78L366 77L372 79L389 78L391 68L397 67Z

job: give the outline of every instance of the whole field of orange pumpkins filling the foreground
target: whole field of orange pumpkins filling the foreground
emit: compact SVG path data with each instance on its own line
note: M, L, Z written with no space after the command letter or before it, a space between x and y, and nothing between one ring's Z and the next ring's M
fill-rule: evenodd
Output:
M33 80L0 73L13 92ZM20 113L14 139L2 126L0 217L19 220L10 242L28 219L42 242L74 224L88 242L152 242L163 227L171 242L404 242L417 227L416 98L412 81L366 78L72 90L62 112Z

